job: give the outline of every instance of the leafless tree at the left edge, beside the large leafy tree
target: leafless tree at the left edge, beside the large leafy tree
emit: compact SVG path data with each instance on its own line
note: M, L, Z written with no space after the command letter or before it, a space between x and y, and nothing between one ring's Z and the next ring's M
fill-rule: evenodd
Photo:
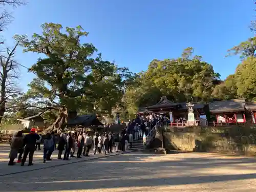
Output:
M20 94L15 83L18 79L18 64L12 60L17 46L18 42L13 49L7 48L7 56L0 55L0 123L4 113L7 112L8 102Z

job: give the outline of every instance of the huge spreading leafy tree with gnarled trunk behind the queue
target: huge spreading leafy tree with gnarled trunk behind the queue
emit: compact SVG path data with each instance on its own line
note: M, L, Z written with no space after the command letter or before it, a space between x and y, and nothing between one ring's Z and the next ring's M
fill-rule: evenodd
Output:
M56 116L45 132L63 129L69 111L93 108L93 103L102 98L103 104L108 98L112 103L121 99L120 86L127 69L102 60L100 54L94 58L96 48L81 42L88 35L81 26L67 27L65 32L59 24L46 23L41 27L42 34L34 33L31 39L16 35L15 39L25 48L24 52L44 54L29 69L36 78L29 83L24 99L26 108L40 110L38 116Z

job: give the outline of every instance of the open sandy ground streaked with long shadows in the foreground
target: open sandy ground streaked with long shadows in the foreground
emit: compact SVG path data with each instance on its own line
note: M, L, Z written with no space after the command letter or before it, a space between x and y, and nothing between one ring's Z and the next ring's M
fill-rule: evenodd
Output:
M256 159L129 153L10 176L0 191L256 191Z

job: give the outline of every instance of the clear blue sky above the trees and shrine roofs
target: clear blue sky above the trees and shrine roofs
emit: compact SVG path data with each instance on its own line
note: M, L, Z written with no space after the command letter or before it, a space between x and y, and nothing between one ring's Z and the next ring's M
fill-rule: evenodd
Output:
M115 60L133 72L146 70L154 59L175 58L183 49L195 54L224 79L233 73L238 57L225 58L227 50L253 36L248 25L253 18L253 0L27 0L14 10L14 22L3 33L12 46L14 34L40 33L43 23L63 27L81 25L103 59ZM16 53L16 60L30 67L37 54ZM20 68L20 86L34 77Z

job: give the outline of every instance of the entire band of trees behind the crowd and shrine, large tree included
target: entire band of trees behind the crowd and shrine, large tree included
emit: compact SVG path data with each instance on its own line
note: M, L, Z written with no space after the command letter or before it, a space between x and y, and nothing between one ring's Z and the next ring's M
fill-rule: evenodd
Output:
M256 31L254 21L250 29ZM101 54L94 57L97 49L84 42L87 36L81 26L63 29L53 23L45 23L41 32L30 38L15 35L15 47L6 48L5 56L0 57L2 124L37 115L52 124L51 131L62 129L69 112L110 116L115 109L127 119L140 106L155 104L161 96L174 102L235 98L256 101L255 36L227 50L227 56L239 55L241 63L224 81L202 56L193 54L191 47L178 58L154 59L146 71L134 74L128 68L103 60ZM24 52L44 55L28 70L36 78L28 84L26 93L15 84L19 64L14 53L19 46Z

